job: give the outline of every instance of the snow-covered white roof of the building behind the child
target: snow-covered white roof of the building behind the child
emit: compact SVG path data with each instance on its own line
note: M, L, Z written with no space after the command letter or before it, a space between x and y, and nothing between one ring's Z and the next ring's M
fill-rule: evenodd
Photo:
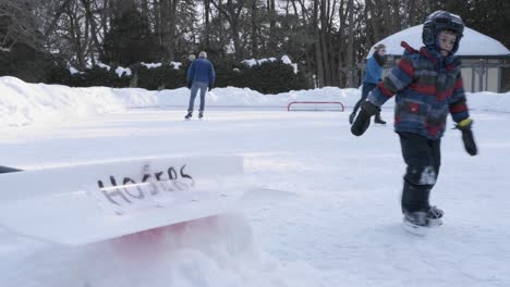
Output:
M396 33L391 36L386 37L385 39L378 41L377 43L386 45L386 54L388 55L402 55L403 48L400 46L401 41L406 41L414 49L420 49L423 46L422 42L422 29L423 24L413 26L406 29L403 29L399 33ZM456 55L472 57L495 57L503 55L509 57L510 50L507 49L501 42L495 40L479 32L474 29L464 28L464 36L461 39L459 51ZM377 46L375 43L374 46ZM367 58L372 57L374 48L371 48Z

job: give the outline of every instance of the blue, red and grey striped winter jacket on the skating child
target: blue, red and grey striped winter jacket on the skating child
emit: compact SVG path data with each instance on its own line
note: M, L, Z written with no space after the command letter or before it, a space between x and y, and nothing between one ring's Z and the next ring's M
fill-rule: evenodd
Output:
M469 117L460 60L441 57L406 42L400 62L377 84L367 100L382 105L394 93L394 130L411 132L429 139L442 136L448 113L459 123Z

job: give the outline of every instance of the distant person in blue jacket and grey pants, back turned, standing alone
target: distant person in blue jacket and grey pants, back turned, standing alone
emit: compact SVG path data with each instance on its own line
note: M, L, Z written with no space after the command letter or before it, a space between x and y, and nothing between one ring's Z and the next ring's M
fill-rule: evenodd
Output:
M202 51L198 53L198 59L194 60L187 70L187 88L191 89L190 104L185 120L193 116L193 107L198 90L201 90L201 107L198 110L198 118L204 117L205 95L207 89L210 91L215 86L215 67L207 60L207 53Z

